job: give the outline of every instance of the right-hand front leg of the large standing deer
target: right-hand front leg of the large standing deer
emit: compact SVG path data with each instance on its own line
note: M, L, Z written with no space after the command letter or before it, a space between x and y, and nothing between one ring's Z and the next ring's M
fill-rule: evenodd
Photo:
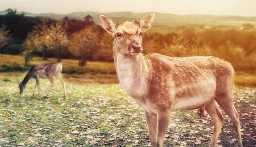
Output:
M163 139L168 129L170 115L171 114L169 111L160 112L159 114L157 114L157 139L156 139L157 147L163 147Z

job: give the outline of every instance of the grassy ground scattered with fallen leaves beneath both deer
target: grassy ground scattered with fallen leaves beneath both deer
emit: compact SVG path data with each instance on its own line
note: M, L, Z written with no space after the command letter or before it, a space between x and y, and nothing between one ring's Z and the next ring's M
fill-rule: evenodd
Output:
M25 74L0 73L0 146L150 146L143 110L116 84L116 76L63 74L67 88L63 99L57 79L48 98L39 90L32 97L35 79L20 96L15 80L21 81ZM44 92L49 90L47 79L40 79L40 84ZM235 86L234 105L244 147L256 147L256 88ZM233 123L221 112L225 122L218 147L235 147ZM207 147L212 126L206 112L199 119L197 110L174 111L164 146Z

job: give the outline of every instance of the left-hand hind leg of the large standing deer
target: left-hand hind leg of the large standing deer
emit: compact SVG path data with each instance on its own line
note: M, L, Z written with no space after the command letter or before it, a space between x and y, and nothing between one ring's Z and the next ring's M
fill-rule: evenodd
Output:
M212 99L206 106L205 110L211 116L212 121L214 123L214 131L212 135L212 140L210 143L210 147L215 147L216 142L218 141L218 137L221 133L221 127L224 121L224 117L221 113L221 111L218 108L217 102L215 99Z

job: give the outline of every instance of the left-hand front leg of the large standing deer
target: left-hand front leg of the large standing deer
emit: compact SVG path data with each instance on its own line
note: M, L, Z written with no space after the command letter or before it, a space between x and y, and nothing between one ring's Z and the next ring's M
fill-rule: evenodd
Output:
M157 114L148 113L147 111L145 111L145 119L148 125L148 135L151 142L151 147L156 147Z

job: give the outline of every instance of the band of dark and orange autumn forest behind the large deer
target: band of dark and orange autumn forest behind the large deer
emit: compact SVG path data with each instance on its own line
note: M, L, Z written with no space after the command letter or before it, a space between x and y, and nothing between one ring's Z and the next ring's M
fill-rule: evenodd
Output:
M126 21L126 20L122 20ZM87 15L84 20L64 17L29 17L7 9L0 15L0 52L20 54L25 64L32 57L57 60L77 59L113 62L113 38ZM187 23L175 25L172 32L154 30L143 34L143 54L159 53L171 57L216 56L232 63L237 71L256 72L256 29Z

